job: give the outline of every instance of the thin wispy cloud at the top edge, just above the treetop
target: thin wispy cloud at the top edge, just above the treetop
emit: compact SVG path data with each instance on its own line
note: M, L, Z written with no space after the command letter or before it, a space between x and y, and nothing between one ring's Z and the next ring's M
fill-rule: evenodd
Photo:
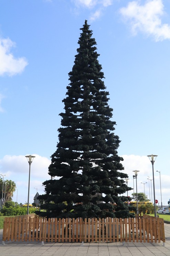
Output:
M113 0L72 0L77 8L88 8L92 10L90 20L96 20L101 17L104 9L112 4ZM95 10L96 9L96 10Z

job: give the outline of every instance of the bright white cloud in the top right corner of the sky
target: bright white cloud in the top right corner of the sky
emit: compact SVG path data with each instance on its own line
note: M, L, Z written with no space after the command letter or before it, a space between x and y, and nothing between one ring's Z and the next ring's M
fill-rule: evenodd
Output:
M170 39L170 25L162 24L164 14L162 0L148 0L144 5L138 1L129 2L127 7L120 9L121 15L128 21L133 35L138 31L152 35L156 41Z

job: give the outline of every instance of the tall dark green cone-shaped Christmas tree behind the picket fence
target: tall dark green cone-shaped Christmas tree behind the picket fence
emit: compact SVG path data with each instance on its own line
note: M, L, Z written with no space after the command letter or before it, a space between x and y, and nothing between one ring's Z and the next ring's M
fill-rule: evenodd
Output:
M96 41L87 20L81 28L78 54L75 56L67 97L60 113L61 128L56 152L51 156L49 175L45 181L46 194L37 212L47 217L129 217L120 196L127 188L128 175L118 156L119 137L114 135L109 93L102 79ZM57 177L57 179L53 179Z

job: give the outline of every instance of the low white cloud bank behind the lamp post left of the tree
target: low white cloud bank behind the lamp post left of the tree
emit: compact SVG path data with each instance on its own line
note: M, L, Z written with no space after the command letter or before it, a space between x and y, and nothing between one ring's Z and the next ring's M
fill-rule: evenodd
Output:
M30 202L33 202L36 189L39 194L44 193L44 187L42 183L51 179L48 174L48 167L51 164L51 160L47 157L36 156L33 159L30 169ZM25 203L28 201L28 180L29 180L29 164L27 158L23 155L11 156L6 155L0 159L0 174L4 176L4 180L12 180L16 183L18 189L13 194L13 201Z

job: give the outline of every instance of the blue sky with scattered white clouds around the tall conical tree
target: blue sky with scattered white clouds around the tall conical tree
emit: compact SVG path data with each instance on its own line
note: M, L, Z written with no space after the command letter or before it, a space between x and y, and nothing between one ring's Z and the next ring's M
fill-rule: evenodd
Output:
M97 42L110 93L115 134L128 185L139 170L138 192L170 198L170 2L168 0L0 0L0 174L17 185L13 201L30 203L49 179L59 113L84 20ZM2 176L1 176L2 177ZM153 185L153 181L152 181ZM35 189L36 188L36 189ZM135 187L136 188L136 187ZM151 189L151 184L150 184ZM18 191L18 195L17 195ZM136 191L136 189L135 189ZM153 192L153 188L152 188ZM133 190L129 192L129 195ZM152 194L153 197L153 194Z

